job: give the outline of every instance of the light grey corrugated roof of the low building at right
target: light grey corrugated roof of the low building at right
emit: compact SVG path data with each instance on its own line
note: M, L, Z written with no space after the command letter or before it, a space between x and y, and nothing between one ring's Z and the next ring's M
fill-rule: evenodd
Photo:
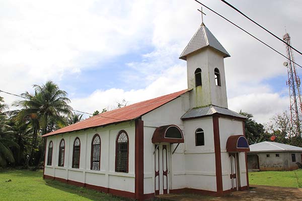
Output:
M276 152L276 151L301 151L301 147L282 144L278 142L260 142L250 145L250 152Z

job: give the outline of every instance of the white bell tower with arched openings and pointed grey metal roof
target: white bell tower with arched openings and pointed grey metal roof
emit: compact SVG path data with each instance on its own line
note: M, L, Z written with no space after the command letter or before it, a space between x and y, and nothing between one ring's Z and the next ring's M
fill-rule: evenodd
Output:
M209 105L228 108L223 59L230 54L202 23L182 52L187 61L190 108Z

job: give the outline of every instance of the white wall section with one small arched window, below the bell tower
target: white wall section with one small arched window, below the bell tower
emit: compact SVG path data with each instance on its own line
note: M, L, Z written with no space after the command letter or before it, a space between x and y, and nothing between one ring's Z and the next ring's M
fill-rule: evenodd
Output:
M185 128L185 166L188 188L216 191L216 168L212 117L187 120ZM195 146L195 131L204 131L204 146Z

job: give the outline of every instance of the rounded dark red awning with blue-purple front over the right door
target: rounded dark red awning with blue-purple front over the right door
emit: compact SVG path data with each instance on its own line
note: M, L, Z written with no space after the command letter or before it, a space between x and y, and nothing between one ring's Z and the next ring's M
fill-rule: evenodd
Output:
M250 151L248 140L243 135L233 135L226 141L227 152L247 152Z

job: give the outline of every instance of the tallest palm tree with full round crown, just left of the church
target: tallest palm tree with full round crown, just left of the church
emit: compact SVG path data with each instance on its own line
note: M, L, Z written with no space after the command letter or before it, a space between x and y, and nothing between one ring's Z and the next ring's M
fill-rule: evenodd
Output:
M35 94L31 95L25 92L22 96L27 97L26 100L21 100L14 105L21 107L18 116L20 119L30 120L33 126L33 144L34 150L37 142L38 131L41 129L41 135L49 132L48 128L51 121L64 125L64 115L71 114L71 107L68 105L70 99L66 97L67 93L60 90L58 85L52 81L47 81L43 85L33 85ZM31 156L33 151L31 151ZM41 159L44 157L42 155Z

